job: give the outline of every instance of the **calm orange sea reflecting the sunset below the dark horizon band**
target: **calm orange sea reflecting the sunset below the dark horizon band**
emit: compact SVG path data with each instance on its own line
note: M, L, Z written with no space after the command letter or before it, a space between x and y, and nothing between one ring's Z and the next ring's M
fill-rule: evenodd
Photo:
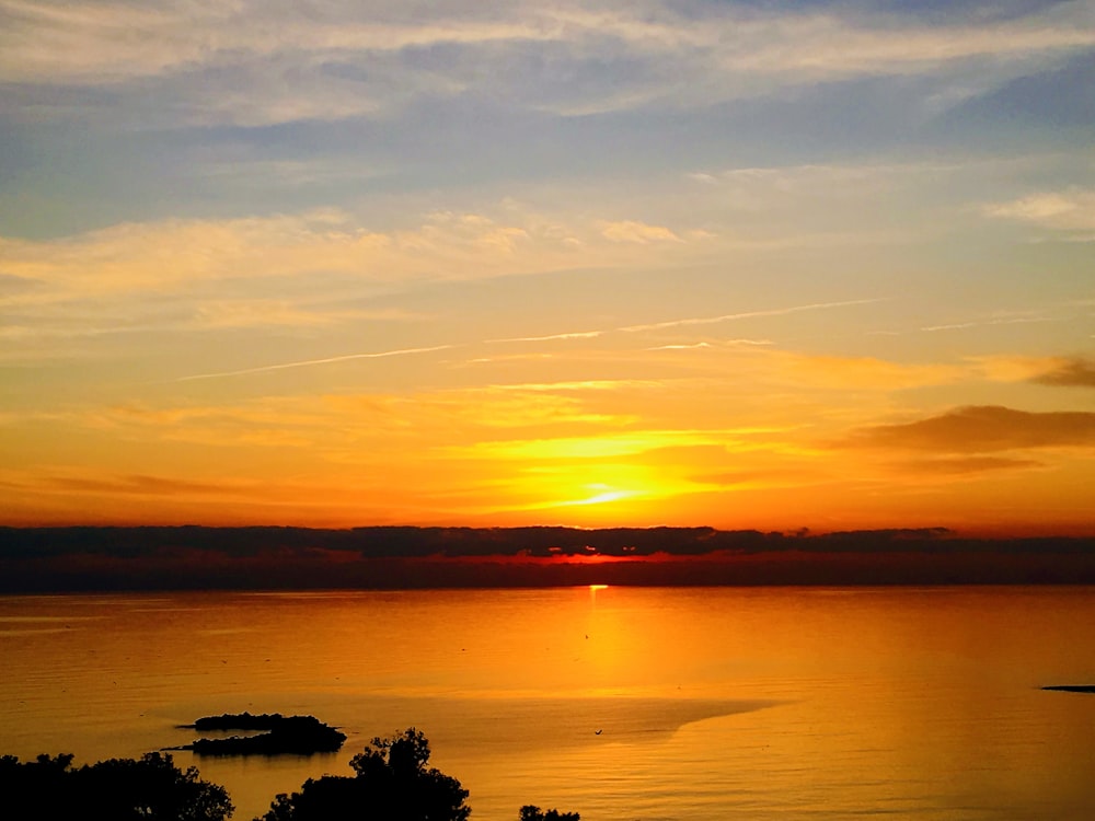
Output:
M423 730L473 819L1095 818L1095 588L0 597L0 753L312 714L314 758L196 759L237 819ZM599 731L599 732L598 732Z

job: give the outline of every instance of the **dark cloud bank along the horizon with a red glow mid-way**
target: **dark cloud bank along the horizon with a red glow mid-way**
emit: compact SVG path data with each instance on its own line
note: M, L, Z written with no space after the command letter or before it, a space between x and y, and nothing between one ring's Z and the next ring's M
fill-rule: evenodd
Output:
M1095 583L1095 537L943 528L0 528L0 592Z

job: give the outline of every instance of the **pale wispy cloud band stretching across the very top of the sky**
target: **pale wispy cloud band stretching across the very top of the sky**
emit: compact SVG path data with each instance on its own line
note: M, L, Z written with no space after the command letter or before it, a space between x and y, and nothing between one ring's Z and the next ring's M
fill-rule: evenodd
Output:
M971 61L983 83L1095 44L1084 3L931 25L794 5L437 3L412 14L368 4L315 14L253 0L7 0L0 21L0 80L151 86L175 103L161 116L241 125L381 115L470 92L568 116L679 107L855 77L946 76Z

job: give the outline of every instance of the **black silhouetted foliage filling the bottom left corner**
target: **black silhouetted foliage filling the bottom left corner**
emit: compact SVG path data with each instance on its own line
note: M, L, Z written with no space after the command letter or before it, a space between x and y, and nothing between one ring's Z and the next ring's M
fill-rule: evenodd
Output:
M0 758L0 789L10 821L223 821L232 802L223 787L185 772L170 755L148 753L139 760L111 759L79 770L72 756L39 755L23 763Z

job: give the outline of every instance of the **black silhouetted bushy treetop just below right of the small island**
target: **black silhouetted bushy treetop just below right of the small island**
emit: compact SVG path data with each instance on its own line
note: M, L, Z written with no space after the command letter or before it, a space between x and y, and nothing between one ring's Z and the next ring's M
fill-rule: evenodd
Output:
M466 821L468 790L429 762L429 742L410 728L374 738L349 765L354 776L309 778L280 794L262 821Z

